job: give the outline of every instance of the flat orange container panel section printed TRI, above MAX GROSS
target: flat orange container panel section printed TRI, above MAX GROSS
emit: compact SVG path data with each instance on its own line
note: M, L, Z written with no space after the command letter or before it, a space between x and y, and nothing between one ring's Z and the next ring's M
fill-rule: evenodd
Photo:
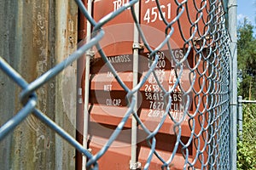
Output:
M127 1L128 2L128 1ZM93 17L96 21L117 10L125 1L99 0L94 1ZM100 44L107 56L132 54L133 20L130 9L119 14L103 26L105 36Z

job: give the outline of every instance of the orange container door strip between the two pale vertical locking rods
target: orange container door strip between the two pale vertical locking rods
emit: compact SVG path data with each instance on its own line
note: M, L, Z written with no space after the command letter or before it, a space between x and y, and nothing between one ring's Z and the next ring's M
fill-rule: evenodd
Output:
M93 17L98 22L111 12L121 8L129 0L96 0ZM133 20L126 9L102 27L105 36L100 42L119 77L132 88ZM96 49L95 49L96 51ZM125 90L113 77L100 54L90 62L90 124L89 147L96 154L108 142L114 129L127 111ZM131 119L108 151L98 161L100 169L129 169L131 160Z

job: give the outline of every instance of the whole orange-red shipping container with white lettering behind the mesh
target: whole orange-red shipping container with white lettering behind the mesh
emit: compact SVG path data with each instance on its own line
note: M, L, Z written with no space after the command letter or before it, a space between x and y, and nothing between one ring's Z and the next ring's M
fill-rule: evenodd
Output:
M121 8L129 0L96 0L92 3L92 16L98 22L111 12ZM201 50L200 37L204 34L207 26L202 20L207 20L207 11L198 12L195 6L201 7L201 3L188 1L183 8L175 1L160 1L160 8L165 17L167 24L173 24L168 27L165 20L162 19L157 4L154 0L140 1L139 4L139 23L142 28L144 37L148 41L150 48L157 48L161 42L169 35L169 46L167 43L158 50L159 59L154 68L157 83L153 74L151 74L143 87L137 92L137 115L143 124L151 132L159 125L162 117L165 115L166 103L165 93L160 85L166 91L172 91L172 104L169 113L172 116L166 117L159 133L155 135L155 151L159 156L167 161L174 154L171 169L183 169L186 154L189 155L189 162L195 161L195 167L201 168L201 164L207 161L207 150L201 150L205 144L204 137L206 134L197 137L191 133L195 126L195 133L200 133L202 127L201 119L207 118L202 116L203 104L201 99L207 99L204 93L197 93L205 90L204 79L200 71L206 71L207 64L200 63L201 54L207 56L207 51L198 53ZM181 14L181 15L178 15ZM201 15L202 20L193 26L196 19ZM178 20L176 20L178 18ZM84 22L84 27L86 23ZM113 65L117 75L125 85L133 88L134 75L134 35L135 24L131 15L131 8L127 8L113 20L109 21L102 27L105 31L100 45L104 53L108 56L108 61ZM192 34L195 34L192 36ZM194 37L191 39L190 37ZM150 67L150 51L140 39L137 82L142 81ZM196 44L196 43L197 44ZM198 46L196 46L198 45ZM136 47L137 48L137 47ZM127 92L119 85L119 82L109 70L108 65L101 58L96 48L93 48L93 57L90 59L90 82L84 82L84 76L80 75L80 87L83 88L81 94L84 95L84 84L90 84L89 93L89 131L87 147L95 155L107 143L114 129L125 116L128 110L128 103L125 99ZM193 70L198 64L196 70ZM84 75L84 65L80 66L80 72ZM207 69L206 69L207 68ZM178 83L177 83L178 82ZM173 88L175 86L175 88ZM83 96L84 101L84 96ZM84 126L84 111L80 111L78 124ZM192 121L191 117L193 117ZM110 145L108 151L99 159L100 169L129 169L131 161L131 117L125 123L125 127L119 134L118 138ZM182 122L180 127L175 127L175 122ZM181 132L178 132L181 130ZM83 132L83 130L81 130ZM178 139L177 133L181 133ZM205 136L204 136L205 135ZM137 161L144 167L150 147L146 142L148 133L145 133L143 127L137 126ZM191 141L192 139L192 141ZM199 140L201 144L199 144ZM82 142L82 139L80 139ZM178 144L178 145L177 145ZM177 146L176 146L177 145ZM174 150L174 151L173 151ZM199 150L201 153L199 153ZM206 160L201 160L199 155L205 155ZM79 158L79 156L77 157ZM81 163L79 161L79 163ZM163 162L157 156L153 156L149 169L160 169ZM80 168L80 166L78 166Z

